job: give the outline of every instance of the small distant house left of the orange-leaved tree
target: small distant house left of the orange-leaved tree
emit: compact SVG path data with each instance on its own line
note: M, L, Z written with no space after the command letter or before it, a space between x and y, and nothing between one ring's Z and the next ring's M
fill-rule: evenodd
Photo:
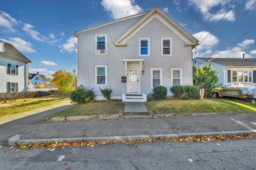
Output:
M46 78L46 76L39 74L39 72L37 74L28 73L28 88L32 89L38 84L41 86L51 85L50 78Z

